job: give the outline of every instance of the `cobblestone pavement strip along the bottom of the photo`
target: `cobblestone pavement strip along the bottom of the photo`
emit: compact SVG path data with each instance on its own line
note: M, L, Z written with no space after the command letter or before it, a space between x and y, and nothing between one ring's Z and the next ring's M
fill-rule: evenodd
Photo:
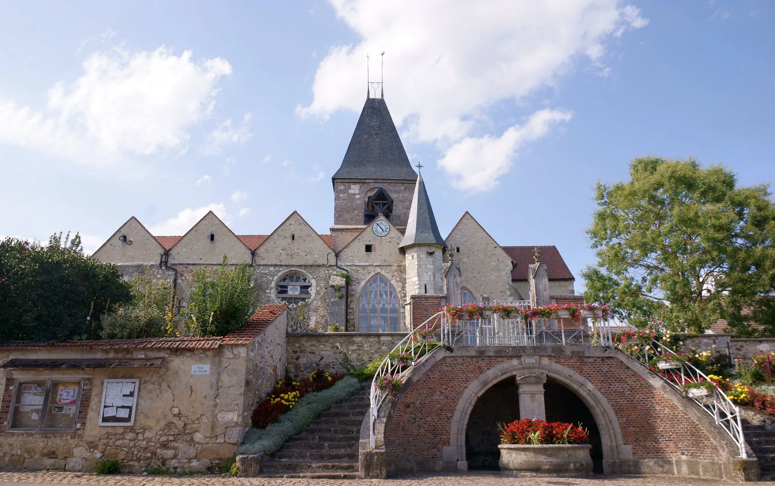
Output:
M498 473L414 474L389 479L279 479L229 476L138 476L63 473L0 472L0 486L43 484L101 484L104 486L715 486L730 481L678 476L504 477Z

